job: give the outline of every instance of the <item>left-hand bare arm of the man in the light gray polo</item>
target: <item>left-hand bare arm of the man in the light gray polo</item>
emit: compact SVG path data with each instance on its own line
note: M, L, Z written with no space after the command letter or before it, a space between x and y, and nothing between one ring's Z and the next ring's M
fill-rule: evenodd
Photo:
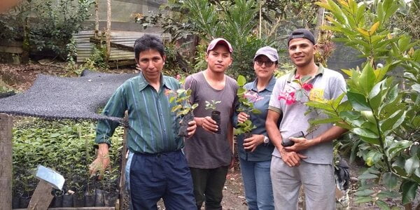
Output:
M265 120L265 129L272 144L276 146L281 155L281 159L286 162L289 167L300 165L300 159L307 158L306 156L296 153L294 151L285 151L281 146L281 134L277 122L279 121L281 113L272 109L268 110L267 120Z

